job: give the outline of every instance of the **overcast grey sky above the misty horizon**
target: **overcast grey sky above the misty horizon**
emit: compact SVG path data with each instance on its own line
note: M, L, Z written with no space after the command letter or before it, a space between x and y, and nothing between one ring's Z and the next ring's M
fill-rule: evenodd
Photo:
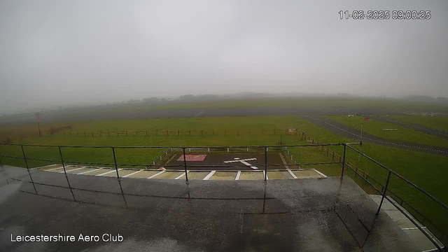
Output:
M0 113L245 91L448 97L447 1L360 2L1 0Z

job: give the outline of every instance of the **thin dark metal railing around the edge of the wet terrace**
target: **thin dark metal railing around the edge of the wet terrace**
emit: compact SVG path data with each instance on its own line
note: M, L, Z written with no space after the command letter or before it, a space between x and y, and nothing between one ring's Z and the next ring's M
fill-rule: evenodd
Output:
M342 155L342 157L339 157L339 161L338 162L319 162L319 163L303 163L303 164L297 164L297 162L295 161L293 164L287 164L288 166L305 166L305 165L332 165L332 164L339 164L342 165L342 169L341 169L341 179L344 178L344 171L346 170L346 168L351 169L355 174L358 174L360 176L361 179L363 179L367 184L369 184L370 186L372 186L372 188L374 188L374 190L377 191L377 193L381 194L381 201L379 202L379 207L377 209L377 215L380 213L381 210L381 206L384 202L384 200L388 200L388 202L391 202L391 204L393 204L395 207L397 207L397 209L402 212L402 214L404 214L405 216L407 216L407 218L409 218L409 220L414 223L414 225L416 225L416 228L418 228L421 232L423 232L423 235L425 235L426 237L428 237L428 239L430 239L430 241L434 244L434 246L439 249L440 251L448 251L448 248L446 246L447 244L447 235L446 233L442 230L442 228L437 227L437 225L435 225L434 223L430 222L428 220L428 218L426 218L426 216L423 216L423 214L419 213L419 211L416 211L416 209L414 207L411 207L410 204L408 204L407 202L405 202L404 200L402 200L400 197L398 197L398 195L396 195L395 193L393 193L390 190L390 182L391 182L391 176L394 176L395 178L400 179L401 181L404 181L405 183L407 183L409 186L412 186L412 188L415 188L416 190L418 190L420 193L422 193L423 195L425 195L425 197L427 197L428 199L432 200L433 202L435 202L441 209L443 209L444 211L447 211L447 216L448 216L448 207L446 204L444 204L443 202L441 202L440 200L438 200L436 197L434 197L433 195L430 195L430 193L427 193L425 190L423 190L422 188L420 188L419 186L416 186L414 183L412 183L411 181L409 181L408 179L405 179L405 177L401 176L400 174L398 174L397 172L394 172L392 169L389 169L388 167L382 165L380 162L377 162L377 160L374 160L373 158L370 158L369 156L365 155L364 153L361 153L360 151L356 150L356 148L353 148L351 145L355 145L355 144L360 144L360 143L339 143L339 144L318 144L316 142L316 144L304 144L304 145L283 145L283 146L52 146L52 145L36 145L36 144L1 144L1 145L5 145L5 146L20 146L21 148L21 152L22 152L22 156L21 157L17 157L17 156L10 156L10 155L0 155L0 157L4 157L4 158L18 158L18 159L22 159L25 160L25 166L27 168L28 174L29 174L29 178L31 180L31 183L33 183L34 186L34 181L33 178L31 176L31 172L29 172L30 167L28 164L28 160L38 160L38 161L45 161L45 162L60 162L62 164L62 168L64 169L64 174L66 177L66 181L67 184L69 185L69 188L71 190L71 185L69 182L69 178L67 176L67 172L66 172L66 165L67 164L86 164L86 165L109 165L113 168L115 168L116 170L116 176L118 181L120 182L120 174L118 173L118 167L122 167L122 166L131 166L131 167L148 167L148 166L153 166L153 167L183 167L183 172L185 172L185 181L186 183L188 183L188 168L209 168L209 169L215 169L215 168L226 168L226 167L246 167L246 165L188 165L187 164L187 160L186 160L186 153L191 153L193 152L199 152L199 151L203 151L203 152L210 152L211 150L213 151L223 151L223 152L230 152L230 151L239 151L239 152L244 152L244 151L259 151L260 153L264 153L264 164L263 166L263 172L264 172L264 181L267 181L267 172L268 169L267 167L279 167L279 166L285 166L285 164L281 164L281 165L275 165L275 164L268 164L267 162L267 153L269 150L271 151L286 151L286 153L288 153L288 155L292 157L292 154L290 153L290 151L288 150L288 148L294 148L294 147L314 147L314 148L323 148L323 146L325 146L328 150L328 146L343 146L344 147L344 154ZM48 160L48 159L42 159L42 158L27 158L26 153L25 153L25 149L24 146L36 146L36 147L51 147L51 148L57 148L59 151L59 158L60 160ZM62 148L106 148L106 149L110 149L111 150L111 156L113 157L113 163L100 163L100 162L67 162L64 161L64 157L62 155ZM182 155L183 155L183 165L179 166L179 165L157 165L156 162L153 162L152 164L148 165L148 164L122 164L119 163L117 161L116 158L116 149L167 149L169 148L169 151L165 152L164 156L168 155L169 153L171 153L173 150L178 150L181 151ZM348 163L346 162L346 152L347 152L347 148L349 148L352 151L356 151L356 153L359 153L360 155L363 155L363 157L367 158L368 160L374 162L375 164L379 165L381 168L385 169L388 172L387 175L387 179L385 181L385 184L382 185L381 183L379 183L378 181L372 179L370 176L363 176L363 174L361 174L359 172L358 169L354 169L352 166L349 166ZM160 160L162 160L162 156L159 158ZM160 161L158 160L158 161ZM333 158L334 160L334 158ZM0 165L3 166L3 163L0 160ZM273 170L271 170L273 171ZM372 184L372 181L374 183L377 183L377 186L381 186L381 189L377 188L377 186L374 186ZM36 190L36 187L34 186L34 190ZM72 194L73 191L71 190ZM37 193L37 191L36 191ZM388 197L388 193L391 195L391 197ZM74 196L73 196L74 197ZM424 228L421 227L421 225L419 225L419 223L417 223L417 221L415 221L412 217L410 216L412 214L409 214L409 212L404 211L402 208L396 206L397 202L395 202L395 200L393 200L393 198L397 199L397 202L400 202L400 206L402 206L402 208L404 209L412 209L412 211L414 211L415 213L419 214L420 216L423 216L423 222L427 221L428 223L430 223L431 228L430 231L431 232L437 232L435 237L436 239L432 236L432 233L427 232L427 230L425 230ZM414 216L415 217L415 216ZM444 216L442 216L443 218ZM417 219L418 220L418 219Z

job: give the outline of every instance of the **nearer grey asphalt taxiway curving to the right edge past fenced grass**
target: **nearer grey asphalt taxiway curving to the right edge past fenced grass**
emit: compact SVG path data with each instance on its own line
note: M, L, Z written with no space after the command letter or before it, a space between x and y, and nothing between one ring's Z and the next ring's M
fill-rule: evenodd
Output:
M305 115L303 113L301 113L299 116L341 137L348 137L355 141L360 140L360 132L358 130L355 130L342 123L338 123L335 122L334 120L330 120L328 118L324 118L321 116L311 116L311 115ZM437 146L426 146L423 144L412 144L405 141L395 141L391 139L383 139L381 137L375 137L365 132L363 132L363 142L370 144L377 144L380 146L391 146L395 148L402 148L409 151L421 151L425 153L448 156L448 148L442 148Z

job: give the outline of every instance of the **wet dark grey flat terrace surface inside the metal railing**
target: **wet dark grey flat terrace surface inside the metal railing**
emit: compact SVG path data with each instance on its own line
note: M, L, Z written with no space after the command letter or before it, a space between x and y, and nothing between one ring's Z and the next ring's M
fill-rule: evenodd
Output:
M3 167L0 251L416 251L348 177L147 180ZM14 179L17 178L17 179ZM98 235L98 242L11 242ZM123 237L102 241L103 234Z

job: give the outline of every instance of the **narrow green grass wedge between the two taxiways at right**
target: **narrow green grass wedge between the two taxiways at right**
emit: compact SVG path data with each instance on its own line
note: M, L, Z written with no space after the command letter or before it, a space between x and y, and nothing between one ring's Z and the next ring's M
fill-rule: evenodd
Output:
M353 129L360 130L361 123L363 124L363 132L372 134L384 139L407 141L409 143L426 144L428 146L448 147L446 139L435 137L430 134L418 132L416 130L395 125L394 123L386 123L380 120L364 120L362 116L325 116L331 120L343 123ZM385 131L382 129L397 129L397 131Z

